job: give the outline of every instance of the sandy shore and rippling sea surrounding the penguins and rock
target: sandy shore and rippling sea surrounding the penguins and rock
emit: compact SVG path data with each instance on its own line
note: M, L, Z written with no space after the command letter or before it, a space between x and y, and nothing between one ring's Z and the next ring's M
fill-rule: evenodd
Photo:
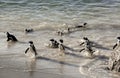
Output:
M0 78L119 78L120 73L106 70L120 36L119 0L0 0ZM82 25L86 28L58 36L58 30ZM26 28L34 31L25 33ZM18 42L7 42L10 32ZM95 46L94 57L80 53L83 37ZM64 40L70 49L61 55L48 48L50 39ZM25 55L33 41L36 59Z

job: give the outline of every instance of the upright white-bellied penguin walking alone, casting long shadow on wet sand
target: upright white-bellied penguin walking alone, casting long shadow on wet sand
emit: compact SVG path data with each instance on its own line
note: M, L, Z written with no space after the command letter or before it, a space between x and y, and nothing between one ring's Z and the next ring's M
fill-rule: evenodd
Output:
M26 49L25 54L30 58L35 58L37 55L36 48L33 44L33 41L29 41L29 43L30 43L30 46Z

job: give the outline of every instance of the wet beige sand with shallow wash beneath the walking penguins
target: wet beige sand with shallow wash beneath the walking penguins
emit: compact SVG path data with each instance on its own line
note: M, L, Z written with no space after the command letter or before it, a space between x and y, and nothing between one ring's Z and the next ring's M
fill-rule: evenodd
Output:
M111 54L112 46L116 42L119 30L80 30L68 35L58 36L55 30L40 30L25 34L16 33L19 42L6 42L6 34L0 33L0 77L1 78L119 78L119 74L105 70ZM114 32L115 31L115 32ZM90 35L91 34L91 35ZM119 35L119 34L118 34ZM79 44L82 37L87 36L95 43L94 58L88 58L79 53ZM50 38L63 39L66 49L60 55L58 49L45 46ZM29 46L28 41L33 40L38 56L30 59L24 52Z

